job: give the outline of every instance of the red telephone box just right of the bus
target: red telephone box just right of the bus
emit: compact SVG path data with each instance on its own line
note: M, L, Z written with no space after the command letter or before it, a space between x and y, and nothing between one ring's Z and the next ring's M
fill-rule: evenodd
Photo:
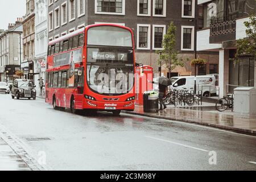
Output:
M153 68L148 65L136 67L135 71L135 104L143 105L143 93L153 89Z

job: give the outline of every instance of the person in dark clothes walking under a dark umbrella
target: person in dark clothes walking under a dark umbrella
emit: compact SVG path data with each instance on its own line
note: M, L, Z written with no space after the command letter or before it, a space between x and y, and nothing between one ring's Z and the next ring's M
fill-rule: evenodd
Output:
M171 80L167 77L162 76L162 77L158 78L158 81L149 81L149 82L151 82L152 84L158 84L158 86L159 86L159 102L160 102L159 110L166 109L167 106L164 104L163 98L166 96L167 87L172 85Z

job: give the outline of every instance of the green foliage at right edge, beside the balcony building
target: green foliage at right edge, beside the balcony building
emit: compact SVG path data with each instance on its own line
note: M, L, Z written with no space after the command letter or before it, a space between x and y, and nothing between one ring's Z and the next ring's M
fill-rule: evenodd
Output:
M237 40L236 60L243 55L256 57L256 15L251 15L249 22L244 22L244 24L247 28L247 38Z

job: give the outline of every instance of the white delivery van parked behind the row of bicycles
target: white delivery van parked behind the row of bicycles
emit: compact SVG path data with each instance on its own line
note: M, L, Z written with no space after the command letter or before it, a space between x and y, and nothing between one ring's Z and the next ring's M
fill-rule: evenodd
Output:
M194 91L195 76L177 76L171 77L172 89L176 90L188 90L188 92ZM216 78L214 75L196 76L196 93L201 94L203 90L203 96L216 96Z

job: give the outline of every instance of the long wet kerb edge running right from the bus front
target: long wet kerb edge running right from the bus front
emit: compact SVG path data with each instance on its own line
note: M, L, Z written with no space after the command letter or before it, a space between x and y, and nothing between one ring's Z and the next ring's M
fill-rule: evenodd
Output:
M122 111L122 112L126 113L126 114L141 115L144 117L168 119L168 120L181 121L181 122L187 122L187 123L195 123L195 124L204 125L204 126L216 127L218 129L222 129L222 130L230 130L230 131L234 131L236 133L242 133L242 134L256 136L256 130L240 129L237 127L222 126L222 125L217 125L217 124L212 124L212 123L203 123L203 122L198 122L198 121L193 121L193 120L183 119L183 118L181 119L181 118L164 117L164 116L160 116L160 115L142 114L142 113L135 113L135 112L131 112L131 111Z

